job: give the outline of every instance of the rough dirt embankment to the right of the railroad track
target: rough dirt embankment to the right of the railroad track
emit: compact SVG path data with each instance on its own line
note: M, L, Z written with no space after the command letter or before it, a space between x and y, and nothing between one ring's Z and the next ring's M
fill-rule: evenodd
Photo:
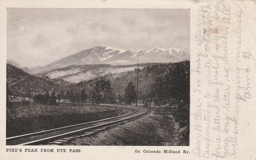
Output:
M189 126L151 112L137 120L68 145L189 145Z

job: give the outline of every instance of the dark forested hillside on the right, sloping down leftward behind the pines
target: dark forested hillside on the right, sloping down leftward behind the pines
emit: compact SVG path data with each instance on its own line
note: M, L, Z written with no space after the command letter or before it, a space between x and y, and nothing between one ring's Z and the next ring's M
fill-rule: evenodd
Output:
M94 84L105 78L110 82L115 99L119 102L125 99L125 89L129 82L137 87L138 99L141 101L154 101L158 105L165 105L171 101L182 101L189 104L189 61L168 64L148 65L137 71L128 71L99 77L91 81L76 84L86 86L90 94L94 90ZM123 100L125 101L125 100Z

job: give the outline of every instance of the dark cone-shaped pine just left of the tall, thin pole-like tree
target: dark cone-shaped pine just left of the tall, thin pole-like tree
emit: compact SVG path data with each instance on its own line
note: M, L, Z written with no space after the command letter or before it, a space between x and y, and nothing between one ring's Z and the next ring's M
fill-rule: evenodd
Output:
M136 91L132 81L130 81L125 88L124 101L129 105L136 101Z

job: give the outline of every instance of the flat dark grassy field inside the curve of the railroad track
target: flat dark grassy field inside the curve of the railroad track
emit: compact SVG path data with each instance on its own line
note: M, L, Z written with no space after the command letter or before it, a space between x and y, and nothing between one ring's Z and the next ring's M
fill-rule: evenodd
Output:
M101 105L41 105L11 102L6 107L6 137L91 122L132 112Z

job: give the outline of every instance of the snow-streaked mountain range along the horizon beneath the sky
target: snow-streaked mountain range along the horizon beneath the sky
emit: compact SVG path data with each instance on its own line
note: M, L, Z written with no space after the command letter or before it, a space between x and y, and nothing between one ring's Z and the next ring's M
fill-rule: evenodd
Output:
M155 48L150 51L138 50L132 52L108 46L96 46L91 49L86 49L79 53L69 55L43 67L24 67L22 69L30 74L36 75L71 65L131 65L136 63L175 63L184 60L189 60L189 53L175 48Z

